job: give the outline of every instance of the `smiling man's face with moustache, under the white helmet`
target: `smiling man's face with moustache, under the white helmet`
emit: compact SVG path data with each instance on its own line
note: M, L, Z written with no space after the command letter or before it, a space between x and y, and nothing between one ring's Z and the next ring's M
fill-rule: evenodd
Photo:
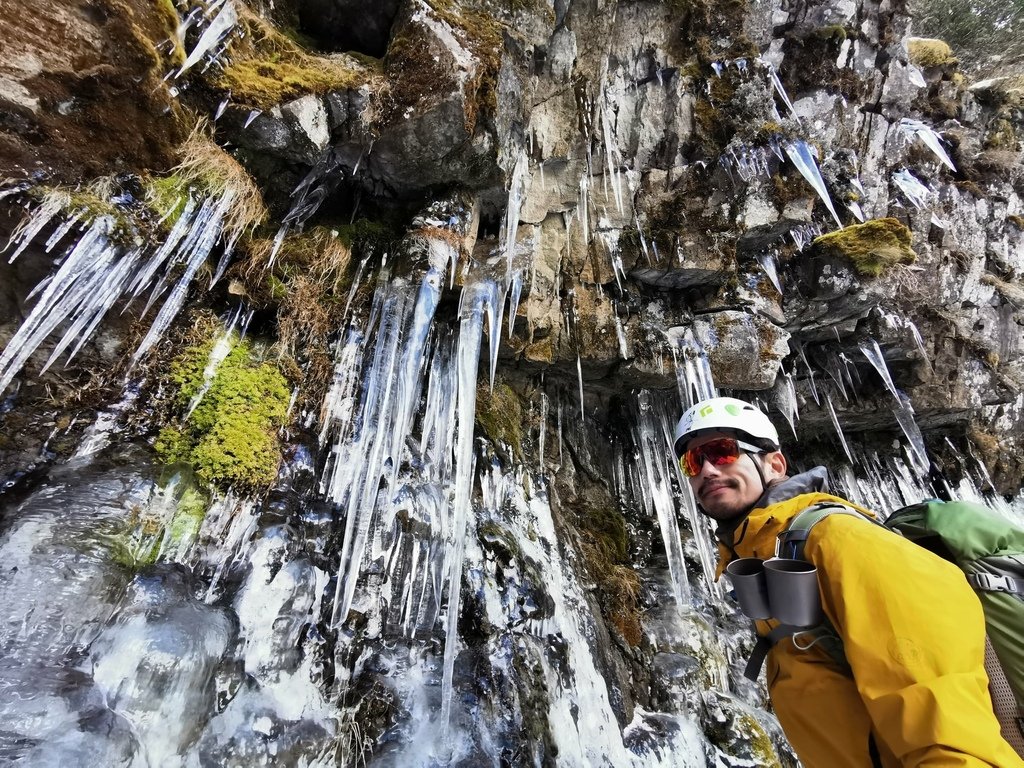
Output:
M721 437L733 437L733 435L725 432L709 432L694 437L686 447L687 450L696 447ZM781 459L781 454L769 456L778 456ZM784 460L782 471L779 472L774 466L775 462L764 461L761 456L741 454L732 464L718 467L706 461L700 471L688 478L693 496L705 514L718 522L728 522L740 517L751 508L764 493L755 462L761 462L766 482L781 476L785 470Z

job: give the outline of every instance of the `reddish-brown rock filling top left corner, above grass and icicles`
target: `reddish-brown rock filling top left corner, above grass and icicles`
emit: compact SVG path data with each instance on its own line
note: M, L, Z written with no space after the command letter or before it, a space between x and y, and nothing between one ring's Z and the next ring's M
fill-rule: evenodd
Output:
M171 3L5 0L0 12L4 175L75 183L173 162L183 136L161 84L175 60Z

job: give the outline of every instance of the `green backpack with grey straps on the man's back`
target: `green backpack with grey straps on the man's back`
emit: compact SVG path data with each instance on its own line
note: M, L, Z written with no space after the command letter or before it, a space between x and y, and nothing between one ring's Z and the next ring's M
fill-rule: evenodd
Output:
M863 517L834 504L805 509L781 537L792 557L805 559L808 534L830 514ZM1004 738L1024 755L1024 527L981 504L937 500L898 509L884 524L956 563L974 588L985 612L989 646L985 668L993 709ZM825 633L834 635L830 627ZM842 653L841 642L833 647ZM829 652L837 654L831 648ZM845 664L845 657L841 660Z

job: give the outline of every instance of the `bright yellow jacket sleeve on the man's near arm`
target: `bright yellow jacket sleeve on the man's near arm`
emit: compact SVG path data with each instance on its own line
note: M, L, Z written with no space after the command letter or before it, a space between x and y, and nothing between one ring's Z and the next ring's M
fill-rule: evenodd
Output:
M1024 766L999 735L981 605L961 570L881 526L833 515L806 557L854 682L903 766Z

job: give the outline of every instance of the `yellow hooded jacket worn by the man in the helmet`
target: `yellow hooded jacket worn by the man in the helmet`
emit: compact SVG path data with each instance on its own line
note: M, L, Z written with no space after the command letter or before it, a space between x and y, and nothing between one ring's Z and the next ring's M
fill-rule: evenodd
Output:
M799 493L808 486L802 475L770 489L768 501L786 486L798 495L754 509L731 548L720 543L720 572L733 557L772 557L776 536L812 504L860 509ZM981 604L955 565L851 515L815 525L804 556L817 567L822 607L853 672L820 645L798 649L793 638L769 653L772 705L805 768L1024 766L999 735ZM758 634L775 625L757 622Z

